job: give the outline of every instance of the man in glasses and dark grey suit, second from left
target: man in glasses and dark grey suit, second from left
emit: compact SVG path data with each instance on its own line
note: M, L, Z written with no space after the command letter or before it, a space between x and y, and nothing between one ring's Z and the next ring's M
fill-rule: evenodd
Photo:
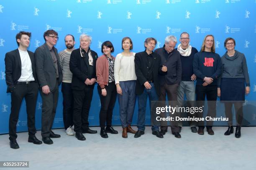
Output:
M36 74L39 91L42 97L42 129L41 135L45 144L53 144L51 138L60 137L51 128L54 122L59 96L59 85L62 81L62 71L57 49L54 47L59 39L55 30L44 32L44 45L36 48Z

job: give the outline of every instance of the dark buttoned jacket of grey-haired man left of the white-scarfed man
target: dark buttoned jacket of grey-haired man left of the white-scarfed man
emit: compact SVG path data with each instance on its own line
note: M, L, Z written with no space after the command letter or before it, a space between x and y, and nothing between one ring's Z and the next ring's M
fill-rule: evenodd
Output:
M162 47L156 49L155 53L161 56L161 65L167 67L167 74L159 77L160 85L162 86L165 83L168 85L177 83L179 85L182 79L182 64L179 51L174 49L168 54Z

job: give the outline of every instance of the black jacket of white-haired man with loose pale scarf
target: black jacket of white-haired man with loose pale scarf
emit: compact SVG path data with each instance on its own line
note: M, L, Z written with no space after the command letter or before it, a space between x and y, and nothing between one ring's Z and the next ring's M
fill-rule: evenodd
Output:
M90 50L90 48L89 48ZM97 79L96 77L96 61L98 58L98 55L95 51L91 51L92 59L93 59L93 69L94 69L94 75L92 78ZM72 72L72 84L71 88L76 90L83 90L86 84L84 84L84 81L88 78L88 72L89 72L89 61L88 58L81 57L80 48L77 48L72 51L69 61L69 69ZM92 79L91 78L91 79ZM94 86L94 84L93 84Z

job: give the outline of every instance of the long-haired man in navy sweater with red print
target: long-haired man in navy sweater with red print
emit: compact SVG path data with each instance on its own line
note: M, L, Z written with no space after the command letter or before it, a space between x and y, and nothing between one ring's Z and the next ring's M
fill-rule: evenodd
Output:
M221 75L220 55L215 53L214 37L207 35L204 38L201 51L196 53L193 61L193 71L197 76L196 95L197 107L202 107L205 96L208 101L207 117L216 117L217 100L217 79ZM203 112L198 112L197 116L202 118ZM207 121L207 132L213 135L213 121ZM204 134L204 121L198 122L198 134Z

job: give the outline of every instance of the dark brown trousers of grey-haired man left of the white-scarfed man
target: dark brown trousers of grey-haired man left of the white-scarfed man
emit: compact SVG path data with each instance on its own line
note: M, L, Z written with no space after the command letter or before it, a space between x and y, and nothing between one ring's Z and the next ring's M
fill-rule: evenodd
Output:
M167 99L168 99L168 104L171 107L176 107L178 105L178 101L177 101L177 90L178 90L178 84L172 84L172 85L168 85L168 84L164 84L163 86L160 87L160 97L159 97L159 101L163 102L166 99L166 94L167 94ZM161 103L161 104L164 104ZM162 106L165 107L165 104ZM165 112L161 112L161 117L166 117L166 113ZM180 116L179 113L174 113L170 115L171 117L174 117L175 120L175 116ZM167 131L168 125L166 121L161 121L160 122L161 130L165 130ZM181 124L181 123L180 123ZM179 122L177 121L172 121L171 123L171 130L172 133L174 132L179 132ZM182 125L182 124L181 124Z

